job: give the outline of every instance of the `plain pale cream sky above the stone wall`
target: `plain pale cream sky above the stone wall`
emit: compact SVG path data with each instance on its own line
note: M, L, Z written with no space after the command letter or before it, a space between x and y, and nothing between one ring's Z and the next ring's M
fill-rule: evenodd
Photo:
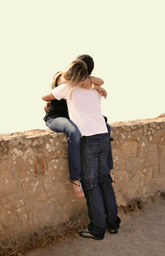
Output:
M165 113L164 0L3 0L0 20L0 133L47 129L41 97L79 54L109 123Z

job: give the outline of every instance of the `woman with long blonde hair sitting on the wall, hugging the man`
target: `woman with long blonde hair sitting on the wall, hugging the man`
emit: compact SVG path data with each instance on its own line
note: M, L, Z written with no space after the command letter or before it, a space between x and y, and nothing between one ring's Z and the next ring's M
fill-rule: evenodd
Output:
M87 78L88 67L85 62L75 60L63 72L55 74L52 88L59 84L64 84L65 90L69 90L68 97L72 99L72 92L76 86L85 87L85 89L97 90L106 98L106 91L100 87L104 82L100 78ZM97 85L96 85L97 84ZM67 113L67 103L65 100L56 100L50 92L42 97L45 101L51 101L50 107L45 116L45 121L49 129L56 132L64 132L68 135L68 163L71 184L74 185L74 193L78 196L84 196L81 186L81 159L80 145L81 134L77 126L72 122ZM58 109L60 103L60 110ZM85 104L85 102L84 102ZM90 111L90 110L89 110Z

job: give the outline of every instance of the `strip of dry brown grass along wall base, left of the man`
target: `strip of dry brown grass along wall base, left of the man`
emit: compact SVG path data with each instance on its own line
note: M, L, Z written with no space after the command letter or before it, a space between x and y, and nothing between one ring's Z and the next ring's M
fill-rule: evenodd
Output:
M39 228L35 232L18 232L10 229L0 241L0 256L23 256L34 248L43 248L51 242L62 241L65 236L75 236L75 231L87 226L89 223L88 212L79 212L63 225ZM17 229L18 230L18 229Z

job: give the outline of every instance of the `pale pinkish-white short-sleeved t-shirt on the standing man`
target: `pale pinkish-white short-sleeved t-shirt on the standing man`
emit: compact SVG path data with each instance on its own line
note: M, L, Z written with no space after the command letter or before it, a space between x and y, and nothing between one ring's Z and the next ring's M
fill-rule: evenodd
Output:
M81 136L108 133L101 113L101 95L97 90L75 87L69 99L71 88L71 85L60 84L52 90L52 94L57 100L66 99L69 118L78 127Z

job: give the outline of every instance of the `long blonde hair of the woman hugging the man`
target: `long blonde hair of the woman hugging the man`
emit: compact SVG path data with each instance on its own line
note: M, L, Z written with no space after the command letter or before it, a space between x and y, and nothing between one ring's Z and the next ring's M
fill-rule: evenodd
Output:
M74 87L80 82L80 80L86 79L88 74L87 64L81 60L72 61L63 72L57 72L53 77L53 88L56 87L56 82L60 75L63 76L65 82L68 85L72 85L69 92L69 97L72 97L72 91Z

